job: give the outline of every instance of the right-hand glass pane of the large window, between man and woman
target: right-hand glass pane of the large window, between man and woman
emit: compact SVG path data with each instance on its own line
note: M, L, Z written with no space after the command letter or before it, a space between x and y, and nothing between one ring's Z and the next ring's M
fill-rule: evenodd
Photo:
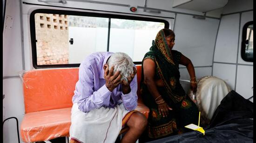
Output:
M133 61L141 62L162 28L161 22L111 19L109 51L125 52Z

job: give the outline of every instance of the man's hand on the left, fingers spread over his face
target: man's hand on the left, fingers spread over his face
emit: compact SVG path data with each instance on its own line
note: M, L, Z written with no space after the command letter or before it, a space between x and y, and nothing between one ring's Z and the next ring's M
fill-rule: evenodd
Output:
M113 75L114 71L114 66L108 70L108 64L104 64L104 79L106 81L106 87L108 88L109 91L113 91L118 85L122 82L121 81L121 74L120 71L117 71Z

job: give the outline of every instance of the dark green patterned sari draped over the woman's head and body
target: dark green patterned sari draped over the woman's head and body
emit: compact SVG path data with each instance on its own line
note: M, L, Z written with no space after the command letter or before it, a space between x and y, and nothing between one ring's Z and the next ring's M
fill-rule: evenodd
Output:
M168 106L173 109L169 110L167 117L159 115L155 99L143 82L142 61L141 93L143 102L150 110L146 130L148 136L146 140L148 141L187 132L189 130L184 126L198 123L199 111L195 103L186 95L179 81L181 55L180 52L169 49L164 32L161 30L158 32L150 51L143 58L143 61L147 58L155 61L155 78L156 80L161 79L164 84L164 87L157 87L158 92Z

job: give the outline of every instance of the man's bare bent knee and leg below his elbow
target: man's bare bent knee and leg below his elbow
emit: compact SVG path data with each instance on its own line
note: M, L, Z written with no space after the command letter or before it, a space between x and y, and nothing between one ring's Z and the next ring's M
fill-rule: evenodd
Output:
M121 143L135 143L146 129L147 124L148 120L141 112L134 112L127 122L129 130L122 138Z

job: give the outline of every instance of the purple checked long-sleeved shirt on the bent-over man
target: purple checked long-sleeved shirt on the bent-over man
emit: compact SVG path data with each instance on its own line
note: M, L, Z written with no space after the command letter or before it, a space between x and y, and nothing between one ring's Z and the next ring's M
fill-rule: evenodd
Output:
M79 110L89 112L101 106L113 108L123 103L128 111L137 107L137 75L130 83L131 92L123 94L121 85L112 92L108 90L104 79L103 66L112 52L96 52L89 55L79 67L79 80L75 85L73 104L77 103Z

